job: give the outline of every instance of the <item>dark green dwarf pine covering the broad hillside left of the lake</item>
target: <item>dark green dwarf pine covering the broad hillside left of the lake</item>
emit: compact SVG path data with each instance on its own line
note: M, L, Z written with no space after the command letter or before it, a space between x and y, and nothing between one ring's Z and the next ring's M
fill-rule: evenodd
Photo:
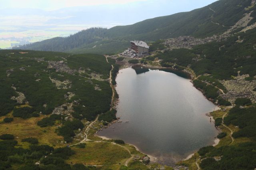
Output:
M103 56L68 55L39 51L28 51L26 54L18 52L16 50L0 51L0 115L6 115L14 109L15 105L18 105L15 100L10 99L12 96L18 96L12 89L12 85L16 87L18 92L24 93L25 101L28 101L29 105L32 106L32 108L14 109L14 117L26 119L38 116L40 112L50 114L55 107L75 100L79 100L79 104L74 105L74 110L89 121L95 119L97 114L109 110L111 101L109 83L92 77L93 74L100 75L102 79L109 77L111 65L106 63ZM56 72L56 69L48 67L48 61L60 62L63 60L67 64L60 64L58 67L63 67L64 71ZM20 68L23 67L24 70L21 71ZM66 70L78 70L80 68L84 72L71 71L69 73L65 71L65 68ZM10 75L7 77L6 71L9 69L13 69L13 71L10 71ZM63 85L57 88L50 78L57 81L69 80L72 85L70 88L62 88ZM100 87L101 91L94 89L96 85ZM74 97L65 98L64 95L68 92L74 93ZM82 107L83 105L85 107Z

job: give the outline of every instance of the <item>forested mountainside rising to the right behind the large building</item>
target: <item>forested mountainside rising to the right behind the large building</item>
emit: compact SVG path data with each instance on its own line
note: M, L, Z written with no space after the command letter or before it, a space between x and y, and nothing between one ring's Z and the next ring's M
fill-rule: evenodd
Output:
M91 28L68 38L53 38L18 48L72 53L115 53L126 48L129 41L135 39L150 42L179 36L202 38L222 34L231 28L244 28L255 23L255 8L254 0L219 0L190 12L148 19L129 26L116 26L108 30ZM106 50L99 50L102 47Z

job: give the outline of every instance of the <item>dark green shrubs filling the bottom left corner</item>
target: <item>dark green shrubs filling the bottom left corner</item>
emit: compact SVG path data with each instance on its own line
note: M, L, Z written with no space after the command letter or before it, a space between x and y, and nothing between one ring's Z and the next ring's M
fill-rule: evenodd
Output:
M87 170L83 165L67 164L65 162L69 156L75 154L68 147L54 149L48 145L30 145L29 148L18 146L16 140L0 141L0 169L20 169L20 170ZM35 165L40 161L40 165ZM14 165L14 167L12 167ZM80 167L80 168L79 168Z

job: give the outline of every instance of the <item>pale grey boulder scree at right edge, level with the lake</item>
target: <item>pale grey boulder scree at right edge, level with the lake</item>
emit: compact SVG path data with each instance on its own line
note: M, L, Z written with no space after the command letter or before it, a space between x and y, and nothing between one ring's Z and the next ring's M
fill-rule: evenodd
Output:
M256 92L253 91L256 87L256 80L246 81L246 77L249 77L249 75L238 75L232 80L220 81L228 91L220 96L232 104L234 104L236 98L250 98L252 103L256 103Z

